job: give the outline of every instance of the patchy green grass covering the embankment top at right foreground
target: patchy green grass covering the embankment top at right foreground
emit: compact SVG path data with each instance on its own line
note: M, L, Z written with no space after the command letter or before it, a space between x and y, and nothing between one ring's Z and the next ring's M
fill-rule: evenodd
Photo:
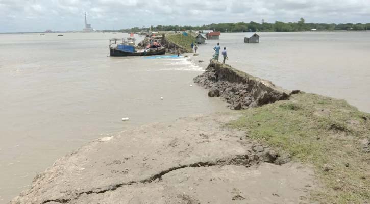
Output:
M314 166L323 188L311 193L313 200L338 204L370 200L370 149L364 147L370 139L370 114L344 100L305 93L242 114L229 125L293 161Z

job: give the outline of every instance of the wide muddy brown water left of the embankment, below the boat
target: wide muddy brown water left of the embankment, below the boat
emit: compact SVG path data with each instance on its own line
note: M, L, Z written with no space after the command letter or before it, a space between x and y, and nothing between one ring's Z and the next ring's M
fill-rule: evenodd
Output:
M227 110L190 87L204 69L185 58L107 57L108 39L123 35L0 35L0 203L93 139Z

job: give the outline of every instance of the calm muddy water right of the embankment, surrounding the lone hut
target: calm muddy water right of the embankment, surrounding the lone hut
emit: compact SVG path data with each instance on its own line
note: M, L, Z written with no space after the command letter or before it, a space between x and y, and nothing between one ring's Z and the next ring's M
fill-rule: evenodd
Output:
M258 33L260 43L243 43L252 34L221 34L199 47L199 58L208 62L219 42L227 48L226 63L237 69L288 90L346 99L370 112L370 32Z

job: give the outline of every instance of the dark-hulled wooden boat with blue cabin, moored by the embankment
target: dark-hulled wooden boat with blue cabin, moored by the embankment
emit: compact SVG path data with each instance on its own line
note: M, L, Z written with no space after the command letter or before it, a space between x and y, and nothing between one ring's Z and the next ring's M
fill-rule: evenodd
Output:
M135 50L135 38L112 38L109 39L109 54L112 57L128 57L164 55L166 53L165 46L158 42L148 46L145 49Z

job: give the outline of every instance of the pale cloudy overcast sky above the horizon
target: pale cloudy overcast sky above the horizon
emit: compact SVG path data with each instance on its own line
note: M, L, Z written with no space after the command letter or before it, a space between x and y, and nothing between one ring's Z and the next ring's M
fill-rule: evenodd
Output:
M370 0L0 0L0 32L221 22L368 23Z

